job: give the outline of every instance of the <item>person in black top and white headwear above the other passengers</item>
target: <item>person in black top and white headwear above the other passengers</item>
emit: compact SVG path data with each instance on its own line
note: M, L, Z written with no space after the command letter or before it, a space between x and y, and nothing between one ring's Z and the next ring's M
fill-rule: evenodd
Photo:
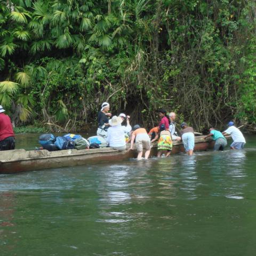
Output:
M109 103L104 102L101 105L101 110L98 113L98 130L97 135L103 138L107 137L108 128L109 128L109 119L111 117L111 113L109 111Z

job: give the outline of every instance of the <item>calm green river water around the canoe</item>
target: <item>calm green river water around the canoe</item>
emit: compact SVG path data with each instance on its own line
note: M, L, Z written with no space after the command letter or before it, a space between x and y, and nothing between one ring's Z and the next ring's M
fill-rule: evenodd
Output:
M0 255L255 255L256 137L247 141L241 151L2 174Z

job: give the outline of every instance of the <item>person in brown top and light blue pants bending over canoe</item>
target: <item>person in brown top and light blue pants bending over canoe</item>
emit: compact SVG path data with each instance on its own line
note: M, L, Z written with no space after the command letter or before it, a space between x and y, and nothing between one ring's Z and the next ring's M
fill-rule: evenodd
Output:
M180 131L181 139L183 141L184 148L186 153L191 156L193 155L194 147L195 147L195 135L194 129L187 125L187 123L182 123L182 130Z

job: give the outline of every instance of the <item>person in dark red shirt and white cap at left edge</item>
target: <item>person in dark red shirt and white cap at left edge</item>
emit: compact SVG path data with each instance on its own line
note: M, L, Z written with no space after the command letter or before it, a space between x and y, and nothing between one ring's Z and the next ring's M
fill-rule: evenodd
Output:
M11 150L15 148L14 132L11 119L4 111L0 105L0 150Z

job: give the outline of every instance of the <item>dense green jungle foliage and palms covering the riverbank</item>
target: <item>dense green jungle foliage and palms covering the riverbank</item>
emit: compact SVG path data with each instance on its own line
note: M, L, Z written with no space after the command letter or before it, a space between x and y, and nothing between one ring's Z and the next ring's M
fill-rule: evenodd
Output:
M153 124L256 122L254 0L5 0L0 103L16 124L72 129L104 101Z

